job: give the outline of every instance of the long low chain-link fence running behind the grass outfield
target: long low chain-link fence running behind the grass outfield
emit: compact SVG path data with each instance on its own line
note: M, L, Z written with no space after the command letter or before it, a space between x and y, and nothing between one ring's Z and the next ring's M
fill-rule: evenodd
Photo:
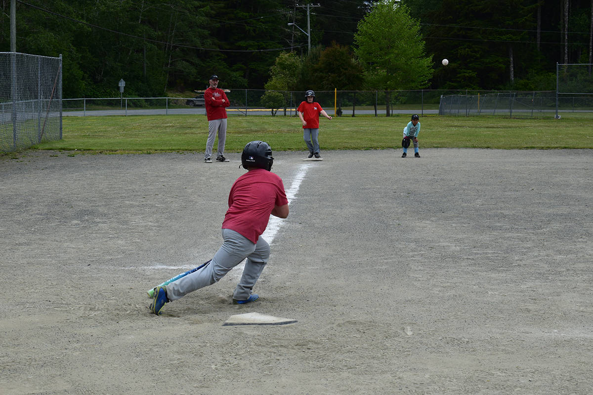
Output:
M305 91L227 89L229 116L295 116ZM417 89L402 91L315 91L315 101L330 115L385 116L391 114L552 116L555 91L471 91ZM590 99L577 95L560 98L562 111L591 111ZM64 99L64 115L205 114L202 94L193 97Z

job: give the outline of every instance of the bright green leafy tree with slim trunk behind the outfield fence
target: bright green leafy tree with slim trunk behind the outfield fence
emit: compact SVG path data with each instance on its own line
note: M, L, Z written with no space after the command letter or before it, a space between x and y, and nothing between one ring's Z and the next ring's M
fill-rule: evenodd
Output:
M393 0L376 4L359 22L354 40L366 85L385 91L387 115L389 91L428 86L432 60L425 54L419 22L405 5Z

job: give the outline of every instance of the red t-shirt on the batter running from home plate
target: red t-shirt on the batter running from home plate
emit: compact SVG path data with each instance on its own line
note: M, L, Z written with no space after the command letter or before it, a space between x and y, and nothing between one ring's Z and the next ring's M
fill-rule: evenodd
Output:
M232 184L222 229L241 233L255 244L274 207L285 204L288 199L282 178L266 169L251 169Z

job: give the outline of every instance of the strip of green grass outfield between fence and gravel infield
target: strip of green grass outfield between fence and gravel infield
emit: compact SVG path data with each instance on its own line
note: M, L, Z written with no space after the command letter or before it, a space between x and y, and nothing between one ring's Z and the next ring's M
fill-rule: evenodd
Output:
M392 117L342 116L320 120L322 150L401 147L401 131L409 115ZM591 115L509 119L500 117L420 117L420 148L467 147L490 149L593 148ZM199 152L205 149L205 115L141 115L64 117L63 139L34 146L42 150L89 153ZM226 150L241 152L251 140L264 140L273 150L305 150L297 117L232 116Z

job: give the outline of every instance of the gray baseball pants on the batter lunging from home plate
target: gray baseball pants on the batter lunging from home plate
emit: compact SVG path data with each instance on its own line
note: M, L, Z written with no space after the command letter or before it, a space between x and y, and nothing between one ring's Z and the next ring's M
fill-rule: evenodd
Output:
M247 300L270 258L270 245L262 237L257 239L257 244L253 244L247 237L231 229L222 229L222 239L224 243L208 265L167 285L169 300L176 300L192 291L218 282L245 258L247 261L243 275L232 298Z

